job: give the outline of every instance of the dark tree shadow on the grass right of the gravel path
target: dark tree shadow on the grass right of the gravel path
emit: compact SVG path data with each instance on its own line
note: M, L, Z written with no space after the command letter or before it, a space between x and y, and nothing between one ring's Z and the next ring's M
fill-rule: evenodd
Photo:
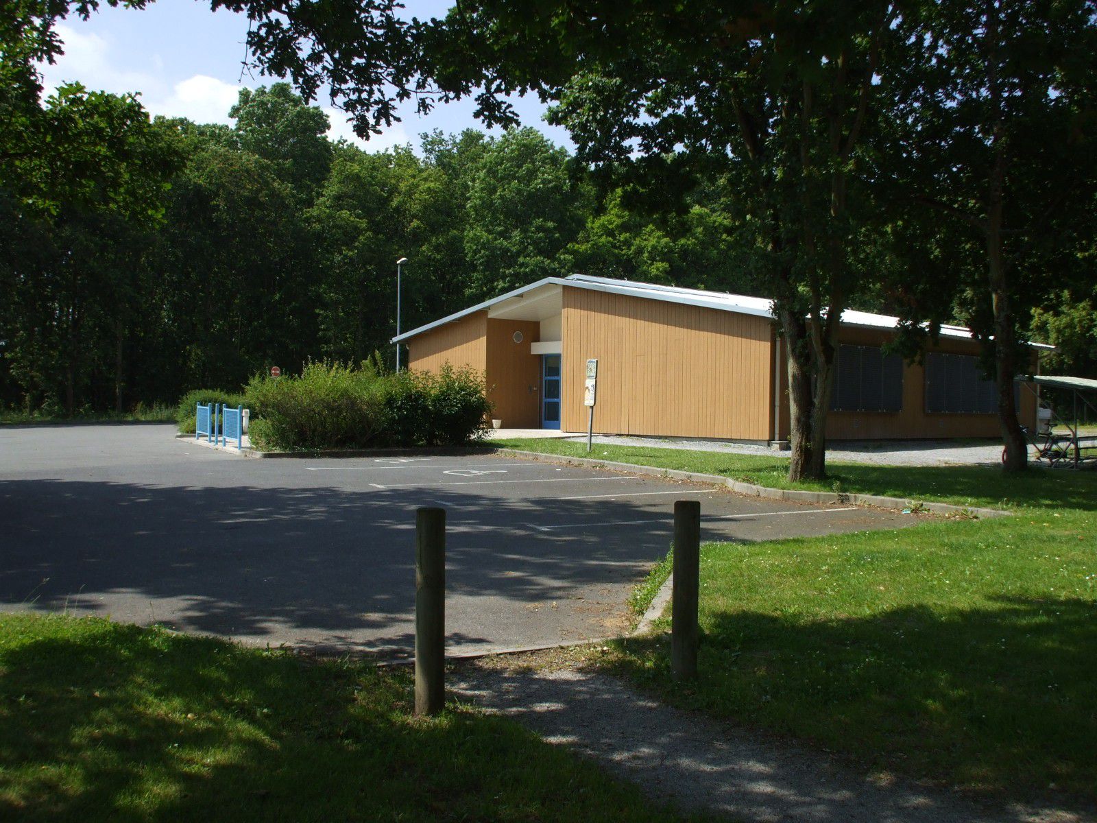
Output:
M873 769L1014 799L1097 797L1097 607L1000 597L805 620L702 616L700 679L669 675L669 636L607 664L668 701L792 735Z

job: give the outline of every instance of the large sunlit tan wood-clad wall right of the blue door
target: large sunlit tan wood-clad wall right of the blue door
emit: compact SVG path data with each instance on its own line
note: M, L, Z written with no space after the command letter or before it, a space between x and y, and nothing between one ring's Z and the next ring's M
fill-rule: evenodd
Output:
M564 288L563 420L587 428L583 386L598 358L595 431L768 440L770 322Z

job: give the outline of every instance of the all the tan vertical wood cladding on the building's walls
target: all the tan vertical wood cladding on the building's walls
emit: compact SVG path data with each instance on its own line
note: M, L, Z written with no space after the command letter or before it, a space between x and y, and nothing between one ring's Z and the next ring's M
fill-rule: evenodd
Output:
M598 358L595 431L614 435L769 440L772 432L772 324L764 317L564 288L562 427L585 431L583 385ZM523 341L512 335L522 331ZM845 328L840 340L880 346L893 332ZM445 362L483 372L508 428L540 425L540 358L530 353L539 324L463 317L408 341L408 368L437 372ZM969 340L941 339L931 351L977 354ZM530 386L536 386L531 392ZM780 437L789 437L788 372L780 359ZM925 369L903 370L897 413L832 412L833 440L997 437L996 415L929 414ZM1021 390L1020 419L1036 426L1036 397Z

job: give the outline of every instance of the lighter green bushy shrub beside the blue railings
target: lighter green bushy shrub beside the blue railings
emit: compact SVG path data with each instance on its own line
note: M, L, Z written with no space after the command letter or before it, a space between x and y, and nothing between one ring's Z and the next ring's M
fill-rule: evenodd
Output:
M299 376L256 375L245 391L251 442L267 451L361 449L386 439L383 379L367 364L309 362Z

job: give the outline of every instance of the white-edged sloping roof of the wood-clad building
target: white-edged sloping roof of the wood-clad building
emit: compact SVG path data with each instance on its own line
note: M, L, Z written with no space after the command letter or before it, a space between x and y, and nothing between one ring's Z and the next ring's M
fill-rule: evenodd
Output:
M679 303L688 306L700 306L703 308L716 308L723 312L735 312L736 314L754 315L755 317L767 317L773 319L772 301L766 297L751 297L745 294L731 294L728 292L709 292L701 289L685 289L677 285L658 285L656 283L640 283L632 280L614 280L612 278L596 278L589 274L572 274L567 278L545 278L535 283L530 283L521 289L500 294L498 297L477 303L461 312L455 312L426 326L405 331L393 338L393 342L403 342L408 338L429 331L432 328L446 323L461 319L475 312L484 309L491 311L493 307L506 301L533 296L532 293L539 290L545 291L553 286L569 286L573 289L586 289L589 291L608 292L610 294L622 294L630 297L643 297L646 300L658 300L667 303ZM898 326L898 318L882 314L871 314L869 312L855 312L847 309L841 313L844 326L861 326L864 328L893 329ZM942 337L955 337L972 339L970 329L963 326L941 326ZM1038 348L1052 348L1043 343L1033 343Z

